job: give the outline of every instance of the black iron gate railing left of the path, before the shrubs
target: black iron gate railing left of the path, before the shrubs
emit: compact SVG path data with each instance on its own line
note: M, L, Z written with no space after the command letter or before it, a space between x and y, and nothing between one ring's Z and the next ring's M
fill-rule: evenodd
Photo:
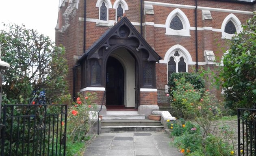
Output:
M67 105L3 105L1 156L65 156Z

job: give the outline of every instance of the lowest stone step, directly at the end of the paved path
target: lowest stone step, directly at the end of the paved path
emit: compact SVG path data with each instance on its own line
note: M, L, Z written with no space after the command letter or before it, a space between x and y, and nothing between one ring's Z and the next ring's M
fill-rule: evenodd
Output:
M162 131L163 129L163 126L101 126L101 132Z

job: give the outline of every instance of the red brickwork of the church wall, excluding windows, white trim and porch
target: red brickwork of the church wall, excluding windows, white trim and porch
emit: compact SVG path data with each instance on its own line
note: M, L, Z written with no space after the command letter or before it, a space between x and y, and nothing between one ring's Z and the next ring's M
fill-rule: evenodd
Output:
M152 2L165 2L171 4L184 4L195 6L195 0L148 0ZM87 0L87 18L98 19L99 8L96 7L97 0ZM112 5L115 0L111 0ZM126 16L131 22L140 22L140 1L139 0L126 0L129 10L125 11ZM83 54L83 34L84 34L84 21L79 21L79 17L84 17L84 1L80 0L78 9L68 12L70 9L67 7L70 5L68 2L65 6L62 6L59 11L59 29L56 30L56 44L63 44L66 49L66 55L69 70L67 75L67 80L69 83L69 91L72 93L73 89L73 66L76 65L76 59L74 56L81 56ZM256 4L239 4L230 2L217 2L214 0L198 0L198 6L222 8L222 9L234 9L241 11L254 11L256 10ZM155 24L165 24L167 16L171 11L176 9L176 7L167 7L153 5L154 15L143 15L143 22L154 22ZM195 10L187 8L179 8L182 10L190 23L191 27L195 27ZM198 27L212 27L221 29L221 24L230 12L219 12L210 11L213 20L202 20L202 10L197 10L197 26ZM109 20L115 20L115 9L108 10ZM67 14L67 15L66 15ZM241 23L252 17L252 15L233 13L239 18ZM66 15L66 16L65 16ZM69 24L69 27L64 29L65 26ZM140 26L135 26L140 32ZM96 26L95 22L86 22L86 49L88 49L95 41L99 39L100 36L109 27L106 26ZM176 44L182 45L186 48L192 60L195 62L195 30L190 30L190 37L187 36L177 36L177 35L165 35L165 28L154 27L151 25L143 26L143 37L148 41L148 43L154 48L154 50L164 58L165 53L169 48ZM211 30L198 30L198 61L205 62L204 50L213 50L217 60L220 60L223 53L228 49L228 40L221 39L221 32L214 32ZM205 66L208 67L208 66ZM195 70L195 65L189 65L189 72ZM76 75L76 92L80 89L80 69L77 69ZM141 104L167 104L168 100L165 98L165 85L167 85L167 64L157 63L156 64L156 87L158 89L158 94L156 92L141 92ZM220 91L214 91L217 98L221 99ZM102 91L99 92L99 97ZM102 95L103 96L103 95ZM153 99L154 97L155 99ZM157 101L158 97L158 101ZM100 99L100 98L99 98ZM151 99L151 100L150 100ZM98 101L101 104L101 101ZM97 102L97 103L98 103Z

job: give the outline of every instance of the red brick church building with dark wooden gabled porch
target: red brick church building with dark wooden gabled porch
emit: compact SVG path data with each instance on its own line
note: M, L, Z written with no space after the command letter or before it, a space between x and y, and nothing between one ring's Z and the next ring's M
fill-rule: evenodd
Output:
M105 94L104 108L169 106L169 74L213 69L256 10L254 0L59 1L69 91L96 92L98 104Z

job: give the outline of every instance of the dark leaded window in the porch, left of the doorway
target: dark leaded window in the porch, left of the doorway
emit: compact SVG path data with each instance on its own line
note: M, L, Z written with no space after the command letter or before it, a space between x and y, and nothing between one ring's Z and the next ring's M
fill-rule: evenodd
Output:
M91 65L91 84L100 84L100 65L97 60Z

